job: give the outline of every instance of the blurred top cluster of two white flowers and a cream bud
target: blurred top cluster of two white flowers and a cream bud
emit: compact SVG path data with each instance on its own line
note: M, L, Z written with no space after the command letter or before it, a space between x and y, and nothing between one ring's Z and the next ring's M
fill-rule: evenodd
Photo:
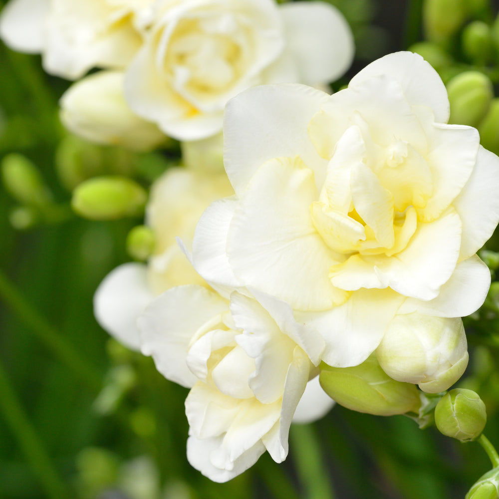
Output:
M320 1L11 0L0 36L41 53L51 74L105 69L63 96L62 121L89 140L136 149L159 144L152 123L178 140L215 135L242 90L327 83L353 57L348 24Z

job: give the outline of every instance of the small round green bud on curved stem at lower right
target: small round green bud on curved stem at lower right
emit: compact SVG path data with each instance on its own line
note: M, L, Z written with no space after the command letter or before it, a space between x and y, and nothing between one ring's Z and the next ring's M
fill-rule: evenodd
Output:
M441 433L462 442L475 440L487 423L485 404L473 390L455 388L435 408L435 424Z

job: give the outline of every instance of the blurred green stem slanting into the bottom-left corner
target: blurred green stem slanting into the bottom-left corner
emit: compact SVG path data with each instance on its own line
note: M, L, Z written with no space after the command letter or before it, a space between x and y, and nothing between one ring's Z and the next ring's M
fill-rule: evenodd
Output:
M68 490L53 466L42 442L17 400L0 362L0 411L19 447L30 462L48 497L69 498Z

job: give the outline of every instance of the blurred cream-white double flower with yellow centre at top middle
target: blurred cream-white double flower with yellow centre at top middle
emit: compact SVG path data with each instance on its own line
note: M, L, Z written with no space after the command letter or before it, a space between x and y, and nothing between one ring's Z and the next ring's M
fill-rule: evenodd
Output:
M346 21L323 2L159 0L125 95L167 135L198 140L220 132L226 102L242 90L328 82L352 56Z

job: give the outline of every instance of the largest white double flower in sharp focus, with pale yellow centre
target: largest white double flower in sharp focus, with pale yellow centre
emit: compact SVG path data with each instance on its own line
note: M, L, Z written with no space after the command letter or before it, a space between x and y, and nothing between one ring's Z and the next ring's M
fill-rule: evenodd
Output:
M409 52L332 96L247 90L224 124L237 197L200 219L195 268L287 301L336 367L364 361L396 313L472 313L490 285L475 253L499 220L499 159L448 117L441 79Z

